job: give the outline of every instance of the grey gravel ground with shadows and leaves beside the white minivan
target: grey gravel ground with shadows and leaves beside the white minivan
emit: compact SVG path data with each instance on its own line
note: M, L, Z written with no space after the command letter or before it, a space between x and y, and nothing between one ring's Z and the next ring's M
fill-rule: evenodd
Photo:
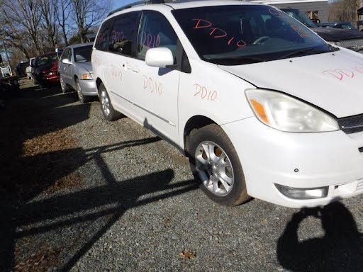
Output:
M0 271L363 271L361 196L223 207L152 132L21 84L0 108Z

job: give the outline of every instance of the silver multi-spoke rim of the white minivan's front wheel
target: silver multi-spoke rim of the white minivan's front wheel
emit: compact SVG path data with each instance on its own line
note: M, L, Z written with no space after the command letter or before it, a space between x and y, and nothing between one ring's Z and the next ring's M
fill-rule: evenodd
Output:
M205 141L196 148L196 171L206 188L216 196L227 196L235 181L233 167L224 150Z

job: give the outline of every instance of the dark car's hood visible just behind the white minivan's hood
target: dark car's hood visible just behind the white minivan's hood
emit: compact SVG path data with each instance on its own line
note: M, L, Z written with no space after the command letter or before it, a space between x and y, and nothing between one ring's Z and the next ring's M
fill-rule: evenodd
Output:
M340 40L363 39L363 33L357 30L339 28L310 28L324 40L339 42Z

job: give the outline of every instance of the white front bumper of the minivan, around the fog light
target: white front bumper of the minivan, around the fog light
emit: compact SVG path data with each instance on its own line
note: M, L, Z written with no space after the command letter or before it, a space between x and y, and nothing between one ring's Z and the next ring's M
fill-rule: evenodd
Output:
M222 125L240 157L247 193L291 208L315 207L363 193L363 132L291 133L269 128L255 117ZM328 187L315 199L284 196L291 188Z

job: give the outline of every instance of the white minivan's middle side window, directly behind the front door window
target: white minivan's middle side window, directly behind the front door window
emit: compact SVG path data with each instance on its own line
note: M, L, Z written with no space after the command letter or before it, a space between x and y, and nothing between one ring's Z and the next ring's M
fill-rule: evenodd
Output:
M138 33L140 12L130 12L116 16L108 42L108 50L122 55L133 56L133 47Z

